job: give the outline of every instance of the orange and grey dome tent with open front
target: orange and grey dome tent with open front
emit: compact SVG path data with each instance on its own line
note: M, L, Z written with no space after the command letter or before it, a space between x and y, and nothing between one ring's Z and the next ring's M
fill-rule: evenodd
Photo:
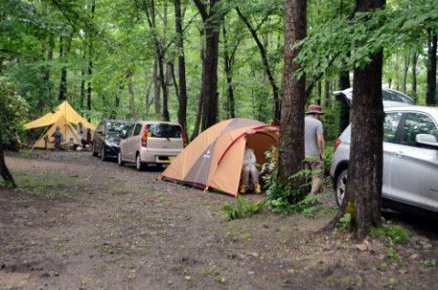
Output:
M164 181L182 181L214 188L236 196L245 137L257 164L266 162L265 152L278 144L278 127L254 119L227 119L203 131L162 172Z

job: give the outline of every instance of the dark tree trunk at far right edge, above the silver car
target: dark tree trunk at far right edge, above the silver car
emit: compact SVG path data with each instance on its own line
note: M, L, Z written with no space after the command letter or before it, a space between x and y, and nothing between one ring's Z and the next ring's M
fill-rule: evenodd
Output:
M436 45L437 36L434 29L429 30L429 44L427 54L429 56L427 63L427 92L426 105L436 105Z

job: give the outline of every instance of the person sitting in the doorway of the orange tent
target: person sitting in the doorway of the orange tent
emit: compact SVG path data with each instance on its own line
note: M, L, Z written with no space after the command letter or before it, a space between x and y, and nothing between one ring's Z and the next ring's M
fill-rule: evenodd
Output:
M254 184L255 193L262 192L260 183L258 182L258 171L255 167L255 155L254 150L248 148L248 140L245 143L244 161L242 162L242 175L240 179L240 193L245 193L249 185L249 176Z

